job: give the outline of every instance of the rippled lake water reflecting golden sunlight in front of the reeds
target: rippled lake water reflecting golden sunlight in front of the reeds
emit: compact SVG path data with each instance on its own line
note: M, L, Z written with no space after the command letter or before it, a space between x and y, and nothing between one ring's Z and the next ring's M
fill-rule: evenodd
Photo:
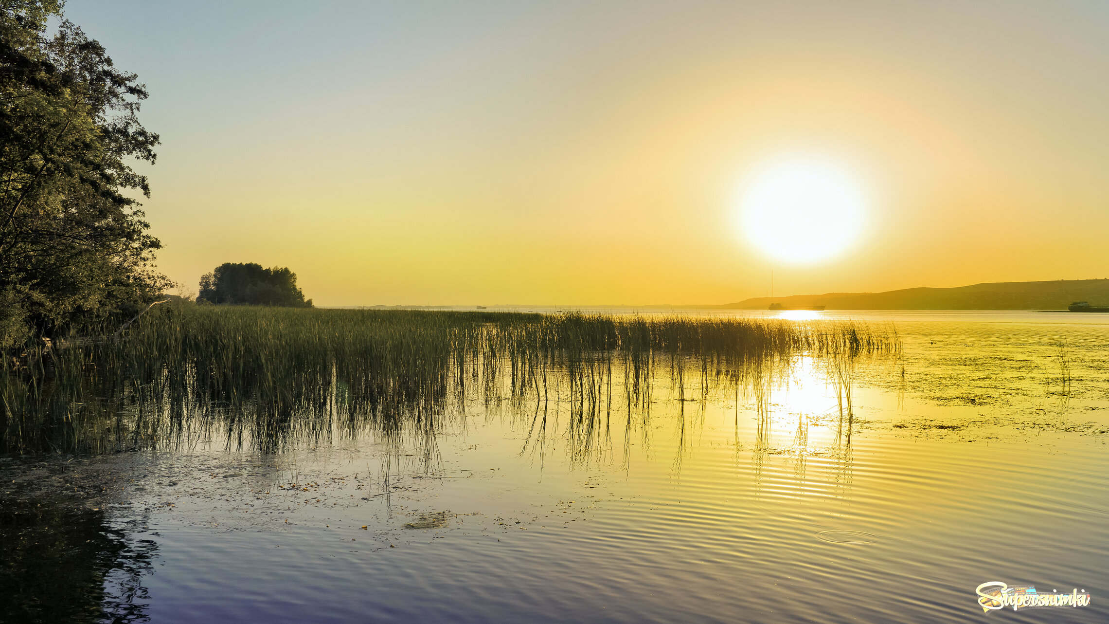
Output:
M1003 581L1093 598L989 617L1109 616L1109 314L781 314L892 323L903 351L798 356L743 393L659 370L633 405L619 371L577 401L477 389L421 434L269 454L200 429L8 457L27 585L0 600L157 623L955 622Z

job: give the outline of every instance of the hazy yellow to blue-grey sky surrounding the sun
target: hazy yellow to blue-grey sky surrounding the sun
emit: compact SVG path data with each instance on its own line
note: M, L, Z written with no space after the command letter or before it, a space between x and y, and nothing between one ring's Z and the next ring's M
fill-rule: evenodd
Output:
M222 262L289 266L322 305L1109 275L1109 4L181 4L68 14L150 87L146 211L193 289ZM830 261L733 227L790 150L874 198Z

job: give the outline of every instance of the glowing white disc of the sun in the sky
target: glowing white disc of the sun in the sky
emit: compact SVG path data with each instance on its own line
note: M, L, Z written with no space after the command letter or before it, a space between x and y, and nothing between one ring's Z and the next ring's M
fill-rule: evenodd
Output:
M863 229L867 198L833 159L794 157L756 170L739 198L744 236L775 260L808 263L846 250Z

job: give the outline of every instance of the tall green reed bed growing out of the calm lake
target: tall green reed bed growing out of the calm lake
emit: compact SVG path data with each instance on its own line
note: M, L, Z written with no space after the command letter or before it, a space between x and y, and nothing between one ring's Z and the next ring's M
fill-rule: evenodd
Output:
M897 350L892 330L851 322L181 303L122 333L80 328L6 354L0 447L103 453L220 434L274 452L367 430L429 440L469 400L538 411L563 394L589 434L601 405L645 405L660 371L684 393L689 375L737 388L803 353Z

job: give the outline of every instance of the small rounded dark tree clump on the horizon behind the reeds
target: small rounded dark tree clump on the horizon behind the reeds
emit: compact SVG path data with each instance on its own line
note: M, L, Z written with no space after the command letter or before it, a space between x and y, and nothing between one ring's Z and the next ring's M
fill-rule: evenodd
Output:
M296 273L287 268L263 269L261 264L227 262L201 278L197 303L312 308L296 288Z

